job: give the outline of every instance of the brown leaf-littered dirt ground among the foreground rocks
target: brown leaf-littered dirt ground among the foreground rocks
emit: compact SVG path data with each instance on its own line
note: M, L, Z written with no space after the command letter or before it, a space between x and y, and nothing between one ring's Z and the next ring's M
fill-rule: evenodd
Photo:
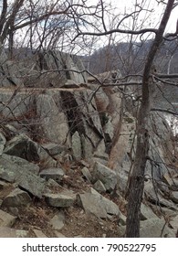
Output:
M67 169L67 175L65 176L62 187L72 189L75 193L83 193L89 190L91 185L89 182L81 176L79 168L73 170ZM5 186L3 189L0 187L0 199L5 198L15 187L11 184ZM109 194L103 195L110 198ZM121 202L117 197L112 200L122 208ZM74 205L70 208L52 208L48 207L44 198L33 198L31 204L28 207L16 209L2 208L6 212L16 215L17 219L12 228L14 229L26 229L29 231L30 237L36 237L33 229L40 229L47 237L57 237L54 229L49 223L58 211L63 211L65 214L65 225L59 230L65 237L120 237L121 230L118 225L119 219L112 217L111 219L99 219L92 214L85 213L84 209Z

